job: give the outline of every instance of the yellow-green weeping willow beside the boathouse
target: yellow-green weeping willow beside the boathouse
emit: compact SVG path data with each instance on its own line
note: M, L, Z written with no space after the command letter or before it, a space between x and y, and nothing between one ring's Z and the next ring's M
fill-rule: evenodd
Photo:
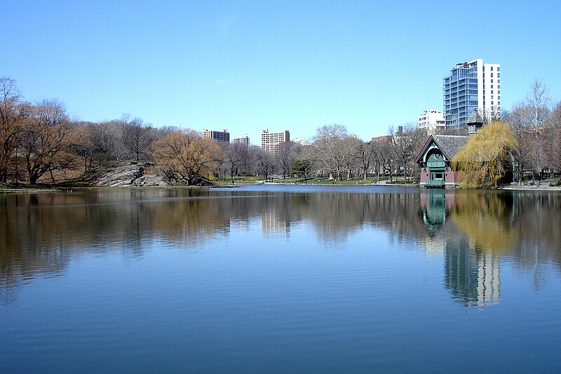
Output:
M452 159L461 187L497 187L511 166L516 138L508 123L494 121L472 135Z

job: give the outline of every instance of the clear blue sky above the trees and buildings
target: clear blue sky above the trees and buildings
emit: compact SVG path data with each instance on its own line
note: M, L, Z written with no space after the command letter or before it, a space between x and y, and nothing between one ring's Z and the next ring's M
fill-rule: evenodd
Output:
M0 76L85 121L363 140L442 109L457 62L501 64L501 106L534 78L561 100L557 1L4 1Z

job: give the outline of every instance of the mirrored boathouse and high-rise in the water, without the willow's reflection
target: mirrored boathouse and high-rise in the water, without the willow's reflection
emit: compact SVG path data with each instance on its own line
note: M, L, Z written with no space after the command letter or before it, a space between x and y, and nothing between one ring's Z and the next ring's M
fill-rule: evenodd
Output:
M457 194L429 190L420 196L419 217L428 232L425 246L428 253L444 256L445 287L462 305L482 306L499 302L501 298L501 266L499 255L482 251L468 234L460 234L450 220L463 211ZM484 212L485 213L485 212ZM471 217L471 219L478 219Z

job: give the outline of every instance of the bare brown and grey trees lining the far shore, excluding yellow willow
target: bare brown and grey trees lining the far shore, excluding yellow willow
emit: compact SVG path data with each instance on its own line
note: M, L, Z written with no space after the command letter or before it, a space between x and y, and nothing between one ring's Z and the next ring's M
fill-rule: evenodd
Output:
M413 161L427 139L417 124L388 128L388 136L363 142L346 126L317 129L311 144L281 143L273 154L255 145L217 142L192 129L156 127L139 117L76 121L58 100L23 100L15 81L0 78L0 182L53 183L91 178L115 161L145 161L174 182L234 182L242 176L344 179L417 178ZM515 138L517 178L561 171L561 103L535 81L527 100L496 114ZM495 118L494 118L495 119ZM450 131L445 131L450 133ZM454 133L459 133L458 131Z

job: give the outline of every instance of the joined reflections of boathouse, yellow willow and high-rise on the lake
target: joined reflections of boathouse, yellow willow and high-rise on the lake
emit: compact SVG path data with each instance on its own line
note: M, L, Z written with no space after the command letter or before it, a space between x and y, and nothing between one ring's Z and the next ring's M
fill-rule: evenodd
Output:
M503 205L503 197L494 196L489 208L489 203L480 201L484 196L443 190L421 194L418 215L429 234L424 246L433 255L443 253L445 287L461 305L489 305L501 298L499 256L482 248L504 250L510 239L504 241L501 236L513 235L506 229L496 232L501 220L494 213L501 211L496 205ZM482 240L485 237L490 241Z

